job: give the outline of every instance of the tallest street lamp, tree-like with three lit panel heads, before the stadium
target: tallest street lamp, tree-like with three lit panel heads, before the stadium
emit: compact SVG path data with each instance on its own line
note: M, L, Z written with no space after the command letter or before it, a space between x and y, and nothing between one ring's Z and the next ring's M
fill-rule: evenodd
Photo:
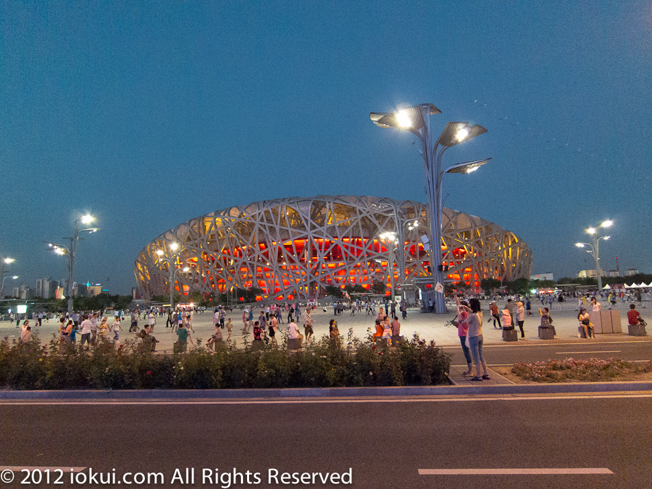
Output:
M441 114L441 110L432 104L419 104L414 107L399 110L399 112L371 112L369 117L376 126L381 128L397 128L412 132L421 143L421 156L423 156L424 169L426 171L426 182L428 189L428 204L430 212L430 267L432 270L432 282L435 291L434 305L436 313L446 312L445 296L443 294L443 266L441 257L441 182L446 173L470 173L478 167L489 163L491 158L484 160L468 161L459 163L452 167L441 170L441 156L450 147L468 141L480 134L487 132L487 129L478 124L469 126L467 122L449 122L443 132L432 144L430 134L430 116Z

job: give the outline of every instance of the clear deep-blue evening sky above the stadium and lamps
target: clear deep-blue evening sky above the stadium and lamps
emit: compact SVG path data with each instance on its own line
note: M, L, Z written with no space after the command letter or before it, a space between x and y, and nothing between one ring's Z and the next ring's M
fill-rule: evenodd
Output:
M67 276L43 241L75 213L76 280L128 294L154 237L263 199L426 202L415 136L369 112L430 102L489 132L458 145L445 206L515 232L533 274L594 268L602 242L652 272L648 1L0 3L0 257L31 287ZM436 135L435 134L435 135ZM11 281L6 287L13 287Z

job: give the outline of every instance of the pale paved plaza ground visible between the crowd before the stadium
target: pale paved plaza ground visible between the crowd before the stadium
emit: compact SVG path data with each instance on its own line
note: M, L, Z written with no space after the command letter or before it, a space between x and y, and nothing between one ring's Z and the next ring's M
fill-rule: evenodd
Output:
M604 301L606 302L606 301ZM498 306L502 307L504 302L498 301ZM550 315L553 318L553 324L557 330L557 339L555 340L541 340L538 337L539 326L539 312L538 307L540 302L533 302L533 315L526 317L524 329L526 339L519 341L517 344L541 344L551 341L557 342L601 342L605 340L613 341L614 339L628 341L636 339L627 334L627 310L629 310L629 302L618 302L616 308L620 311L620 320L622 326L622 333L602 334L596 335L596 339L579 339L577 335L577 302L555 302L552 304L552 311ZM482 333L485 338L485 344L502 344L502 330L493 327L493 321L487 322L489 318L489 302L482 302L482 311L485 317L485 323L482 327ZM646 322L652 324L652 311L651 302L644 300L641 305L637 305L636 309L640 311L642 317ZM254 318L262 309L254 309ZM303 308L301 309L303 311ZM421 339L426 339L428 342L434 341L438 346L459 346L460 342L457 335L457 328L455 326L446 326L446 323L452 320L455 316L454 308L449 309L451 312L447 314L432 314L422 313L419 309L408 309L408 315L405 320L401 322L401 335L406 338L411 338L413 335L418 334ZM377 311L377 309L376 309ZM154 327L154 336L159 340L156 350L160 352L172 352L172 344L176 341L176 333L172 333L170 328L165 327L165 320L167 316L156 318L156 326ZM242 346L244 338L242 335L242 311L234 309L233 312L228 313L226 318L231 318L233 322L233 332L231 339L235 342L235 346ZM342 315L334 316L332 307L327 307L326 312L323 311L323 306L313 311L312 318L314 320L314 337L320 338L323 335L328 335L329 320L335 318L338 322L338 329L343 337L347 337L349 328L353 329L353 336L364 339L369 333L369 329L373 329L375 318L372 315L366 315L364 310L360 313L356 311L355 315L351 315L349 311L344 311ZM283 317L283 323L279 324L279 333L277 339L280 341L283 331L287 331L288 323L285 322L287 314ZM109 322L113 320L109 318ZM30 321L31 322L31 321ZM33 322L31 322L33 324ZM143 326L145 320L139 319L139 326ZM205 344L206 340L213 334L213 314L211 311L205 313L196 313L193 318L193 328L195 333L193 339L197 342L198 339L202 340ZM120 341L124 342L126 339L135 339L134 333L128 333L130 320L127 317L121 324L123 331L120 333ZM303 324L299 324L303 326ZM56 334L57 322L54 319L49 322L43 322L42 326L35 326L32 331L38 333L42 344L49 341ZM300 328L303 332L303 327ZM16 323L10 324L8 321L0 322L0 337L10 337L14 339L19 337L21 331L16 328ZM251 329L250 329L251 331ZM648 331L650 333L650 331ZM519 333L520 336L520 333ZM113 337L113 335L110 335ZM80 335L78 334L78 341ZM226 339L226 329L224 329L224 339ZM253 335L248 335L248 341L251 342ZM189 345L190 346L190 345Z

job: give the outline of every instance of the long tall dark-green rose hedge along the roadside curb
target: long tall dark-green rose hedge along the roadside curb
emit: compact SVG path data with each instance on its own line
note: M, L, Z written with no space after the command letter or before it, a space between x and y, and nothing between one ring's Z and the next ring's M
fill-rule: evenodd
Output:
M237 389L347 387L447 383L450 355L415 336L395 348L363 342L351 333L323 337L291 352L287 338L244 348L199 341L186 353L139 352L137 344L98 338L89 350L42 346L35 335L26 347L0 341L0 387L12 389Z

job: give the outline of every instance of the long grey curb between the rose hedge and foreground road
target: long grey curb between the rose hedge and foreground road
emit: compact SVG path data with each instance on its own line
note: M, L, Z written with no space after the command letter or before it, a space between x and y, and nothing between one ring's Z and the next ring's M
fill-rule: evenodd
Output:
M598 382L513 385L434 385L414 387L319 387L296 389L225 390L66 390L2 391L0 401L69 399L280 399L280 398L384 398L509 394L573 394L590 392L651 391L652 382Z

